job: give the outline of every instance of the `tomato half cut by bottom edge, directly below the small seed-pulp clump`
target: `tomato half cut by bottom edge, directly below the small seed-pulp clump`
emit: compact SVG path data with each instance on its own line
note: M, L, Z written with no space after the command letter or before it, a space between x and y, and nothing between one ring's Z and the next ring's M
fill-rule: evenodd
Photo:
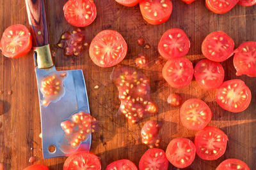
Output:
M168 159L163 150L152 148L143 154L139 163L140 170L167 170Z

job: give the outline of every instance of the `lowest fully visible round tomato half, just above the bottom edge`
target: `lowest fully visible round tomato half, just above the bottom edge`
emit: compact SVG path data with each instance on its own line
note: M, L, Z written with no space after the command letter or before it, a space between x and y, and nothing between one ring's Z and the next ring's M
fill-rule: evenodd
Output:
M195 159L196 148L193 141L186 138L175 138L166 149L166 157L175 167L184 168Z

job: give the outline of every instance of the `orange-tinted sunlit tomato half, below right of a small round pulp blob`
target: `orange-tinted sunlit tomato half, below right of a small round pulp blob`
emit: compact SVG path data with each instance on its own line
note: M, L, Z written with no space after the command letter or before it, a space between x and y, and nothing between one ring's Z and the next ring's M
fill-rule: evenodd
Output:
M200 99L188 99L180 108L180 120L184 127L199 131L209 124L212 111L209 106Z

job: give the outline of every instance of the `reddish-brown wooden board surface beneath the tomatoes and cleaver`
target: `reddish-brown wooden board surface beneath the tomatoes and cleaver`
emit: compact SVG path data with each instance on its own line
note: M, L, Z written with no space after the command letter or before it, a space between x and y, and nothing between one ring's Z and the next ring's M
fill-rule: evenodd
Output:
M114 29L124 36L128 45L128 53L122 64L134 65L136 55L141 52L150 57L150 66L143 69L143 72L150 78L152 98L159 106L159 113L155 117L145 118L139 124L129 125L125 118L116 117L120 101L118 90L109 79L113 67L101 68L93 64L88 50L71 64L70 59L63 57L62 50L54 47L61 32L73 29L63 15L65 2L46 0L51 46L56 50L54 60L59 70L84 71L90 110L93 117L100 121L99 132L93 134L91 151L100 157L102 169L118 159L130 159L138 166L141 155L147 150L147 146L140 141L140 130L147 120L164 120L161 129L163 150L173 138L194 138L195 132L180 124L179 109L171 108L166 102L171 92L180 93L184 99L203 99L213 113L209 125L219 127L229 138L227 151L220 159L206 161L196 156L187 169L215 169L228 158L241 159L251 169L256 169L256 79L236 76L232 57L221 63L225 69L225 80L241 78L252 90L249 108L235 114L218 106L214 98L215 90L200 89L195 80L182 89L169 87L161 76L164 61L156 62L159 57L157 43L163 32L170 28L180 28L188 34L191 48L187 57L194 66L199 59L204 58L201 44L212 31L227 32L234 39L236 47L244 41L256 41L256 5L248 8L237 5L226 14L216 15L205 8L204 1L198 0L187 5L180 0L173 0L170 19L161 25L150 25L141 17L139 6L127 8L114 0L95 0L97 18L85 28L88 39L104 29ZM6 27L13 24L29 27L24 0L1 0L0 24L0 35ZM136 41L140 36L145 38L151 48L137 45ZM31 51L21 59L8 59L2 55L0 57L0 90L4 92L0 99L6 104L5 113L0 115L0 162L4 162L7 169L19 170L31 165L28 162L29 157L36 156L35 163L49 166L51 170L62 169L65 158L42 159L41 139L38 137L41 131L40 112L32 54ZM99 85L99 89L94 89L95 85ZM12 96L8 95L9 90L12 90ZM176 168L170 164L169 169Z

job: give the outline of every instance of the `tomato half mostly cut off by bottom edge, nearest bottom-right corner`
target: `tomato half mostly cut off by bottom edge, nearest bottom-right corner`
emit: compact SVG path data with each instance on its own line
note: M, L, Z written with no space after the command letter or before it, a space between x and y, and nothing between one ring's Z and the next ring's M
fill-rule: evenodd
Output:
M250 168L242 160L226 159L216 167L216 170L250 170Z

